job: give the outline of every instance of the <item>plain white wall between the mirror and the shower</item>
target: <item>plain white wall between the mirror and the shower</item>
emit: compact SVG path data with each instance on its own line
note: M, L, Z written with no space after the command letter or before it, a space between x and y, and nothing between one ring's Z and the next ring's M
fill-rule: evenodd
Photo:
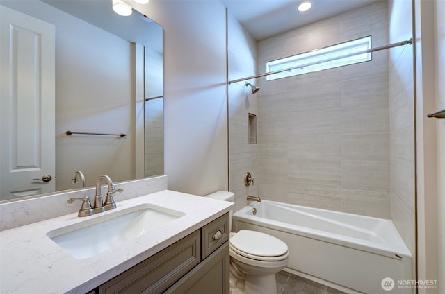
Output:
M225 7L211 1L133 4L164 29L168 189L228 189Z

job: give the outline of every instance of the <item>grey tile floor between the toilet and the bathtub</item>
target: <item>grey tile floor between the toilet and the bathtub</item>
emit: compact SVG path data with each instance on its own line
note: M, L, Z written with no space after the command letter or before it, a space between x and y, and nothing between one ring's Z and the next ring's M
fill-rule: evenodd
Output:
M284 271L277 273L275 277L278 294L345 294L345 292Z

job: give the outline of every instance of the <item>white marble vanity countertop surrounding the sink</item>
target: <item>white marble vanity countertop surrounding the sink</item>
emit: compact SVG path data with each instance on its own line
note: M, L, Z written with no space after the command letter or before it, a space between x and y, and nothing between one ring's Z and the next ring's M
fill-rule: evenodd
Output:
M88 259L75 259L47 236L51 230L145 203L185 216ZM85 218L68 214L0 232L0 292L86 293L222 216L232 205L164 190L118 202L118 208L102 214Z

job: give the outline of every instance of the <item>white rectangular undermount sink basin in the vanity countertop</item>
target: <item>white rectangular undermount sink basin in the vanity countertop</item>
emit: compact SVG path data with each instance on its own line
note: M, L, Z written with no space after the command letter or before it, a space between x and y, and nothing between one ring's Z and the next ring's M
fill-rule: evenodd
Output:
M75 259L87 259L181 216L184 212L144 204L60 227L47 236Z

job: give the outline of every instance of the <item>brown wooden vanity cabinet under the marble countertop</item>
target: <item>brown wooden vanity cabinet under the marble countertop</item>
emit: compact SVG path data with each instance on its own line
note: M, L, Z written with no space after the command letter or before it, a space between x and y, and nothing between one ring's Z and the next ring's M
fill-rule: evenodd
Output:
M227 213L102 284L97 291L229 293L228 240Z

